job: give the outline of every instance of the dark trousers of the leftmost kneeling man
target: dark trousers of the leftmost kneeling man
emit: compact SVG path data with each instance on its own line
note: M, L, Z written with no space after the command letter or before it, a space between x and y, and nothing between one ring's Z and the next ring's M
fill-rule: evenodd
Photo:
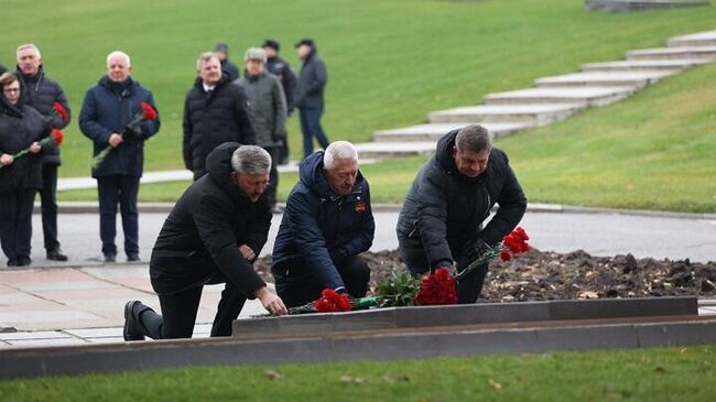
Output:
M139 329L152 339L191 338L204 286L189 287L174 294L159 295L162 315L147 306L135 308ZM226 283L221 292L211 336L231 336L231 323L239 316L246 296L232 284Z

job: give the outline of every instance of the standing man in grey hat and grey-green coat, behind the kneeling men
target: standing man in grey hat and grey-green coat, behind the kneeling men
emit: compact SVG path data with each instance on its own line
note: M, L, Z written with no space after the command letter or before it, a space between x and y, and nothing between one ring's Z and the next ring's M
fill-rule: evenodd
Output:
M276 187L279 172L276 164L281 143L286 134L286 100L279 78L265 70L267 54L260 47L246 52L246 74L236 83L246 90L251 110L257 144L271 155L271 178L267 197L273 213L282 210L276 207Z

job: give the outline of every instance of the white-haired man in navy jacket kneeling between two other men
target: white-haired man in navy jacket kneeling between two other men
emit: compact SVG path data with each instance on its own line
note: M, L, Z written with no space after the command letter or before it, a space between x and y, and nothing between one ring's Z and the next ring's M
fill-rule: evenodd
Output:
M312 302L324 289L362 297L370 269L358 254L373 241L368 182L346 141L306 157L286 202L271 272L289 306Z

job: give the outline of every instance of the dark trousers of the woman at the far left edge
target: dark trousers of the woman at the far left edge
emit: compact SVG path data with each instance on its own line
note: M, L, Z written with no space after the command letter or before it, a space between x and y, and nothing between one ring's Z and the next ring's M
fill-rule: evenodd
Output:
M8 262L30 260L35 193L36 189L0 193L0 243Z

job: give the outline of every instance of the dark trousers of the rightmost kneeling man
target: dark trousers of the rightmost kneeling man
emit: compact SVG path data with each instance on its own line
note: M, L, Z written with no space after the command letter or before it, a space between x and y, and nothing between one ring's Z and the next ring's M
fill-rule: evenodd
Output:
M409 243L399 238L398 249L400 257L413 276L420 278L430 271L430 264L422 245ZM487 269L488 264L485 263L459 280L457 283L457 303L471 304L477 302L487 276Z

